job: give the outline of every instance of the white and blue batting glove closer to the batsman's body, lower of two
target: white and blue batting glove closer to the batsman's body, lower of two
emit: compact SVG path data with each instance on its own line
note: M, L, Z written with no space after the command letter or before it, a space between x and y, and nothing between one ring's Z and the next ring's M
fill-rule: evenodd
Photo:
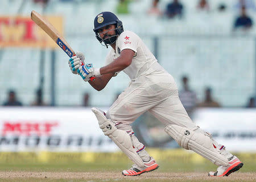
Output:
M100 77L100 69L93 67L92 64L86 64L79 67L77 73L80 74L82 79L87 82L90 77Z

